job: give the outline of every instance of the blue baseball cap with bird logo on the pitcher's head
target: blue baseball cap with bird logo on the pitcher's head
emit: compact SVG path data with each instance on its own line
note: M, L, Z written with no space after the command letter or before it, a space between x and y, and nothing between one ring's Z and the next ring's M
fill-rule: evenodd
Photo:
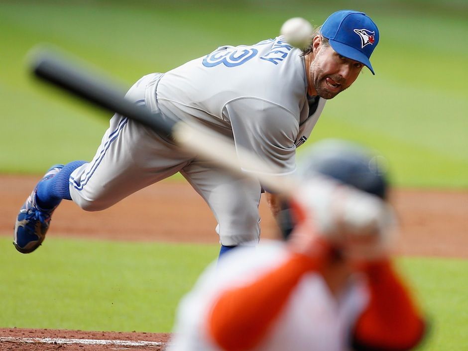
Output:
M321 34L340 55L362 63L375 75L369 58L379 40L378 28L364 12L334 12L322 25Z

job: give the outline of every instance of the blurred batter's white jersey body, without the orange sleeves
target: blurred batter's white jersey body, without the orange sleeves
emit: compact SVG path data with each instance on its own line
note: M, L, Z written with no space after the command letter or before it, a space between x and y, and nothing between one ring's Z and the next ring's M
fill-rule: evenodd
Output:
M224 290L254 281L290 257L284 243L263 241L255 248L233 250L218 265L212 265L182 300L167 350L222 350L208 331L207 320L214 301ZM367 301L363 282L351 282L337 299L322 276L311 271L302 276L272 328L251 350L347 351L351 327ZM229 326L226 329L229 331Z

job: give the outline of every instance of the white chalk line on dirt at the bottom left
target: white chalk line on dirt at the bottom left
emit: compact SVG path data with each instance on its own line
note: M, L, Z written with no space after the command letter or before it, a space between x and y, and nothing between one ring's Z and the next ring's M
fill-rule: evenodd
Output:
M65 339L65 338L14 338L0 337L1 342L42 343L42 344L81 344L81 345L115 345L115 346L152 346L161 347L165 343L155 341L101 340L101 339Z

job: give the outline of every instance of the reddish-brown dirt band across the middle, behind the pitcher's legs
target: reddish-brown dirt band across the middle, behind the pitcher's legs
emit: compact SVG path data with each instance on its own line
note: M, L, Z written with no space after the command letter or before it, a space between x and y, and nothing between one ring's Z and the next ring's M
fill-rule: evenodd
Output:
M38 177L0 176L0 233L12 234L14 219ZM397 253L468 257L468 191L396 189L391 194L400 221ZM262 199L261 235L274 237L276 224ZM100 212L63 201L54 213L53 236L110 240L217 243L208 205L185 182L163 181Z

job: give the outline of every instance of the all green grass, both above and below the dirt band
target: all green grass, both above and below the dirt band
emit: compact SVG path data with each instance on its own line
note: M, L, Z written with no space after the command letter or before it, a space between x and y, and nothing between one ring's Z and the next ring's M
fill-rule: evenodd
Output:
M321 24L349 7L379 25L376 76L364 71L330 101L310 141L343 137L376 148L398 186L467 189L465 0L1 1L0 173L42 174L57 162L90 159L107 128L108 113L31 79L26 54L38 43L129 87L220 45L276 36L289 17ZM20 255L10 234L0 234L8 235L0 236L0 328L168 332L178 300L217 253L216 245L54 238ZM421 349L465 350L467 261L398 263L432 320Z

